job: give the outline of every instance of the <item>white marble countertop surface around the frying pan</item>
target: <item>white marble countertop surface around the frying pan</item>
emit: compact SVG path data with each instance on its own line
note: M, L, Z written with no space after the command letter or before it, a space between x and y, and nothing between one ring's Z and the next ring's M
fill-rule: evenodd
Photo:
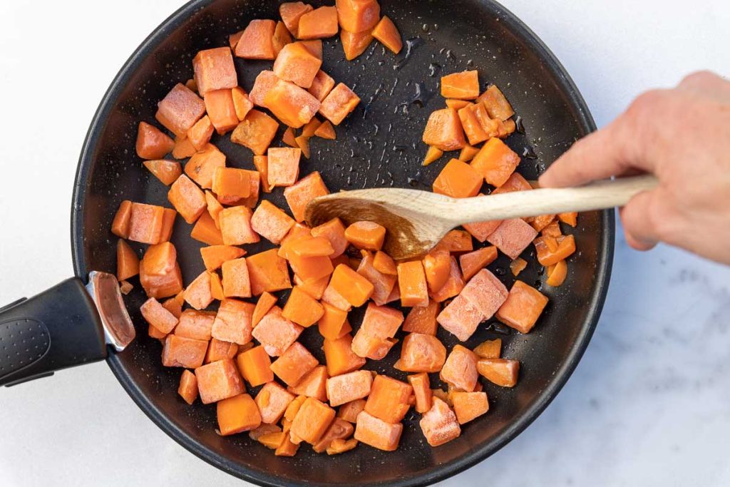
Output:
M180 3L0 1L0 302L72 274L88 123L122 61ZM503 3L558 55L599 126L691 70L730 73L724 0ZM635 253L621 237L616 250L599 329L564 391L444 486L730 485L730 268L661 246ZM241 484L166 437L104 363L0 391L0 432L1 486Z

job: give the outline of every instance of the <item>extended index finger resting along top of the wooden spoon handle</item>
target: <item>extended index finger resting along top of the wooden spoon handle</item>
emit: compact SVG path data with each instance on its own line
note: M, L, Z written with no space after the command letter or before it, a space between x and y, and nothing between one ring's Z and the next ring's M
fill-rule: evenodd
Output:
M545 188L583 185L626 172L653 172L647 157L652 139L648 131L657 123L666 100L664 91L649 91L634 101L610 125L576 142L539 178Z

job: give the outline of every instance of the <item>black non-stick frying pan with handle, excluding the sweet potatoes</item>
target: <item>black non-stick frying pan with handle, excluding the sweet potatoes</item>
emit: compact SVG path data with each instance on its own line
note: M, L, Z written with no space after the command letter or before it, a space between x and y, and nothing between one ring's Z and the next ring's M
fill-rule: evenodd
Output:
M114 272L115 237L110 223L123 199L169 206L167 188L143 169L134 153L139 120L153 122L156 104L175 83L191 77L198 50L226 45L227 35L254 18L277 18L279 2L271 0L194 0L165 20L137 49L112 82L93 118L82 147L74 185L71 234L77 277L0 313L0 383L18 383L54 369L106 358L123 388L155 423L185 448L220 469L260 485L320 486L425 485L455 475L502 448L533 421L558 394L588 345L599 318L612 262L613 212L580 216L578 252L569 259L569 276L560 288L542 285L534 250L520 280L537 285L550 304L530 334L522 335L488 321L466 343L501 337L503 354L522 364L515 388L484 383L490 410L467 424L461 437L431 448L410 413L399 450L385 453L361 445L328 457L301 448L293 458L273 456L247 434L215 433L215 407L189 407L177 396L180 369L161 366L161 345L146 335L139 315L145 299L139 283L126 296L137 340L118 353L104 345L96 303L82 287L92 271ZM317 5L321 2L313 1ZM331 4L331 2L330 2ZM523 154L519 171L535 179L576 139L595 129L583 98L555 56L514 15L488 0L381 1L383 13L399 26L406 46L393 56L374 43L356 61L346 62L338 39L325 43L324 69L350 85L362 102L337 129L337 141L314 138L312 158L301 173L319 170L331 191L364 187L430 188L442 163L420 165L420 135L432 110L442 107L439 77L478 69L483 85L496 83L520 115L521 133L507 143ZM239 84L247 90L270 62L236 60ZM276 140L280 140L277 137ZM253 157L228 137L212 141L228 156L229 166L253 169ZM277 144L279 142L276 142ZM280 191L265 195L286 208ZM185 282L202 272L199 242L180 218L172 242ZM141 255L142 245L134 247ZM269 248L266 242L249 253ZM489 268L511 286L509 261L500 256ZM280 304L285 296L280 299ZM114 306L113 299L107 302ZM103 314L103 312L102 312ZM350 316L357 329L361 314ZM107 323L108 325L109 323ZM108 333L107 326L107 335ZM124 337L122 337L124 338ZM129 337L126 337L129 338ZM447 347L455 340L442 330ZM127 340L110 345L123 348ZM323 361L318 334L302 342ZM7 352L7 353L5 353ZM399 350L367 368L404 379L392 368ZM432 378L432 386L438 386ZM257 390L249 392L255 394Z

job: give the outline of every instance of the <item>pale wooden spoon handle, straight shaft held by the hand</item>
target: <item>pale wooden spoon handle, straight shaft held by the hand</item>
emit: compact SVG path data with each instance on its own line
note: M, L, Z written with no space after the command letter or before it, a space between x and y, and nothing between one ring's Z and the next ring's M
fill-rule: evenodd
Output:
M584 212L621 207L641 193L656 188L653 175L602 180L575 188L539 188L533 191L477 196L459 200L450 209L459 223L504 220L564 212Z

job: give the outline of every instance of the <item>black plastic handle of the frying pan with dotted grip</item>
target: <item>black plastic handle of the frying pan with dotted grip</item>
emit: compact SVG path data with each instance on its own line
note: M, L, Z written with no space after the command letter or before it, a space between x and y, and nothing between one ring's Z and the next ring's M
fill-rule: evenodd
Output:
M0 386L106 357L99 312L78 277L0 308Z

